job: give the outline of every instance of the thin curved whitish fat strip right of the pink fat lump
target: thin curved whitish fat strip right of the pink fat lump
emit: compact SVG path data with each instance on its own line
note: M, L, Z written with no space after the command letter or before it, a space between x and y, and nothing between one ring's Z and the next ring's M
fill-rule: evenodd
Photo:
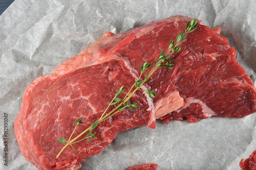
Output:
M215 111L211 110L205 103L203 103L201 100L198 100L198 99L193 99L193 98L188 98L189 100L191 100L187 105L185 105L184 107L176 110L177 113L179 113L181 110L187 108L188 106L190 106L190 104L192 103L198 103L201 105L201 108L202 108L202 112L204 114L205 117L209 118L211 116L214 116L216 115Z

